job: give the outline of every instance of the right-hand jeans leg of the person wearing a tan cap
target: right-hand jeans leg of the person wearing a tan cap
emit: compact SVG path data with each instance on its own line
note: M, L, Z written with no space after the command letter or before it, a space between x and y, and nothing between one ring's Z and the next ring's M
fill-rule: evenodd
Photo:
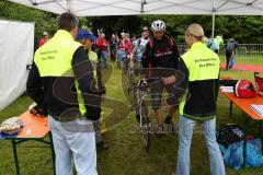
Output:
M225 175L222 155L216 141L216 118L203 122L203 132L209 153L211 175Z

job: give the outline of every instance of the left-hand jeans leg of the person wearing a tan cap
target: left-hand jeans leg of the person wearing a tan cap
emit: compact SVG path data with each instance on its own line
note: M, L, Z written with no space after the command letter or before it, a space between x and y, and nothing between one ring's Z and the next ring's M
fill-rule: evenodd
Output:
M190 175L190 149L196 121L180 117L176 175Z

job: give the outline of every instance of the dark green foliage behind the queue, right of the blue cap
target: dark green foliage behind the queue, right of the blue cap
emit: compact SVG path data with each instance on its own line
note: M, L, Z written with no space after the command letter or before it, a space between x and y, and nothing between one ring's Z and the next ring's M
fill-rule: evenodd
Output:
M102 16L89 18L88 21L92 22L95 33L103 27L107 35L124 31L140 36L141 27L150 26L158 19L165 22L168 35L175 37L179 43L184 43L185 26L191 23L199 23L206 36L211 36L210 15ZM263 16L216 16L215 35L222 34L225 39L235 37L239 43L263 43L262 31Z

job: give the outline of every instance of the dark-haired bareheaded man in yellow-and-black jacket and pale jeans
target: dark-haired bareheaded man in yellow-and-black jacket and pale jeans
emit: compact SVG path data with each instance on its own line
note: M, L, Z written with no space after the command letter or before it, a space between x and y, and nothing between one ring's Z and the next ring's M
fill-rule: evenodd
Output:
M76 42L78 19L70 12L58 16L58 31L35 51L26 91L47 109L56 154L56 174L98 175L92 66L83 46ZM85 105L84 105L85 104ZM88 119L87 119L88 118Z

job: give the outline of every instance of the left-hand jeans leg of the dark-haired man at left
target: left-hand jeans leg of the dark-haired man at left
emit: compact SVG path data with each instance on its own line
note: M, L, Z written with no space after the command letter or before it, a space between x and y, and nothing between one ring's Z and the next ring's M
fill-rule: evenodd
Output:
M72 175L72 153L66 137L60 132L60 124L48 116L49 127L53 135L53 144L56 154L56 174Z

